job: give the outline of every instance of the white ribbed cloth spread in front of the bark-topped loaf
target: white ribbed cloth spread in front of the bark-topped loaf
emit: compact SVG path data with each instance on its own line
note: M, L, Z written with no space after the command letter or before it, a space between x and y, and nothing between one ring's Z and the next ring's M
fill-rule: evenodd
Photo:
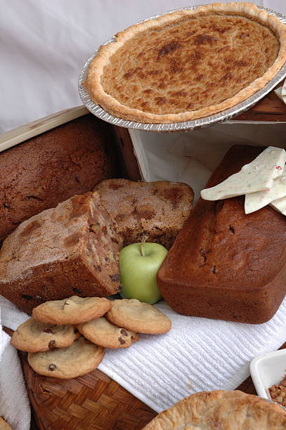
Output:
M99 369L156 412L205 390L233 390L249 376L249 362L286 339L286 298L261 325L178 315L162 302L171 331L141 335L131 348L108 350Z

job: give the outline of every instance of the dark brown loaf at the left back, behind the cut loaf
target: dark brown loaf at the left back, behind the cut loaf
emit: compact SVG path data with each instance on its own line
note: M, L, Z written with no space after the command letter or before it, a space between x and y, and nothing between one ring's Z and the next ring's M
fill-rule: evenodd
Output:
M22 221L119 174L111 127L74 119L0 153L0 240Z

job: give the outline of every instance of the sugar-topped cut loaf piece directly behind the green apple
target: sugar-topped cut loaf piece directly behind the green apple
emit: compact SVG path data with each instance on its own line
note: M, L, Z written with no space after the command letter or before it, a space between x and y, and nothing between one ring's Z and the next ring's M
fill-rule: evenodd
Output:
M135 182L107 179L94 188L117 222L124 245L157 242L169 249L193 208L193 190L186 183Z

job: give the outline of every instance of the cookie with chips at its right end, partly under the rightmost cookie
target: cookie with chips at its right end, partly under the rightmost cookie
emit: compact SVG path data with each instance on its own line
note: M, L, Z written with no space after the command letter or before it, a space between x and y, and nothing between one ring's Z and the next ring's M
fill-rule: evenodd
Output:
M105 348L128 348L138 341L138 334L110 323L105 317L77 325L86 339Z

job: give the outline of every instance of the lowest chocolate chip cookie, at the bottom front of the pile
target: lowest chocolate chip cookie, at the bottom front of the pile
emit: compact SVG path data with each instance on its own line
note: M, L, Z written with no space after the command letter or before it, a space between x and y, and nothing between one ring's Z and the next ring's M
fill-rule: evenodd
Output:
M70 379L91 372L103 359L105 349L79 337L68 348L28 353L32 369L49 377Z

